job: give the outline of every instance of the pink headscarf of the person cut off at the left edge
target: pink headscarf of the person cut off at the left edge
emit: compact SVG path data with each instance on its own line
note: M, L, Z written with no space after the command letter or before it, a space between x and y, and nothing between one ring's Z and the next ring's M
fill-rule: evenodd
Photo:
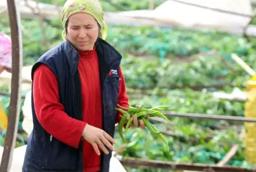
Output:
M3 33L0 33L0 66L12 68L12 41Z

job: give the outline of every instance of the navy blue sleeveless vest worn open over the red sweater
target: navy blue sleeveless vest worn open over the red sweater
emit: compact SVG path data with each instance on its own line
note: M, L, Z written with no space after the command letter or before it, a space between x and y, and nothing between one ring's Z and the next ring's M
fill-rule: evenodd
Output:
M98 39L95 45L100 66L103 130L114 137L116 122L114 108L117 105L120 79L119 73L109 76L109 72L111 70L119 72L122 55L102 39ZM78 52L69 41L65 40L38 59L32 67L32 80L39 64L47 64L58 79L59 99L65 107L65 112L74 119L82 120L78 61ZM81 144L79 149L75 149L57 139L50 140L50 134L42 128L36 118L33 96L32 114L34 128L28 139L23 172L83 172L83 151L86 150L82 149ZM111 150L109 155L104 153L101 155L102 172L109 171L110 158Z

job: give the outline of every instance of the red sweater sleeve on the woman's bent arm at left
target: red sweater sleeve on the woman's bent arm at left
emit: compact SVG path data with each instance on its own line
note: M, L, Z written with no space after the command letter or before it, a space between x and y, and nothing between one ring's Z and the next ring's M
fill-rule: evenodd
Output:
M34 73L33 98L36 117L41 126L55 139L78 148L87 123L65 113L59 102L56 76L45 64L41 64Z

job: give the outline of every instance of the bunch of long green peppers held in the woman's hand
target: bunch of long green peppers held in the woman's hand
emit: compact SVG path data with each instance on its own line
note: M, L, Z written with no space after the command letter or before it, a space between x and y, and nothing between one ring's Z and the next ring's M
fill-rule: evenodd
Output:
M126 142L125 138L123 137L123 126L126 124L125 126L125 134L126 134L129 129L129 126L131 126L133 122L133 116L136 115L138 121L140 119L143 120L145 126L149 129L149 131L151 131L151 135L154 138L159 137L160 139L162 139L167 146L167 150L169 150L168 142L165 139L164 135L162 135L162 133L146 119L147 115L149 115L149 117L160 117L162 119L167 120L167 122L170 122L167 119L167 117L165 117L165 114L160 112L160 111L164 111L166 108L169 108L169 106L156 106L154 108L142 108L143 106L142 107L129 106L129 108L124 108L118 104L118 107L119 108L116 108L116 110L120 111L123 114L122 119L118 124L119 134L123 142ZM127 121L127 115L130 115L130 119L128 121Z

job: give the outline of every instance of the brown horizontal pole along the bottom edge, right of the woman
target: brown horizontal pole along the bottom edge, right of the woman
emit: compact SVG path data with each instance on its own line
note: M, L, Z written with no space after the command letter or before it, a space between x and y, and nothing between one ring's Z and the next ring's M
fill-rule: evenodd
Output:
M210 164L189 164L189 163L178 163L178 162L167 162L160 160L145 160L141 158L121 157L116 156L123 166L129 167L140 167L140 168L156 168L156 169L173 169L173 170L193 170L193 171L211 171L215 172L256 172L255 168L242 168L242 167L231 167Z

